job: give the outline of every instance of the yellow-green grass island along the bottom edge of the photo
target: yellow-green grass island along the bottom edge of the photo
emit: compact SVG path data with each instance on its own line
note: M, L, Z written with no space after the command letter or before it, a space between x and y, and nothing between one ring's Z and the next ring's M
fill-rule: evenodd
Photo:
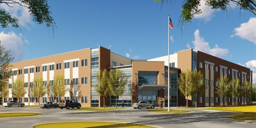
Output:
M114 123L114 122L63 122L63 123L48 123L33 126L33 128L88 128L88 127L102 127L102 128L155 128L145 125L134 125L130 123Z

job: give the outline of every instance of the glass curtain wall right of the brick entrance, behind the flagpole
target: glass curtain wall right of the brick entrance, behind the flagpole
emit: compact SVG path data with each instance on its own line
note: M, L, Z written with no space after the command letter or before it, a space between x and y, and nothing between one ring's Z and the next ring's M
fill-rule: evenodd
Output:
M168 83L168 68L164 69L164 77ZM170 107L178 106L178 71L170 70ZM164 88L164 106L168 107L168 87Z

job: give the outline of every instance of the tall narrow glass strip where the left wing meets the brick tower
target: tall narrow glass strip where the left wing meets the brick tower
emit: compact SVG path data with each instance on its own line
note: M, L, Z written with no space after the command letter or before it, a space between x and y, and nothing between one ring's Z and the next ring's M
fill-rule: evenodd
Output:
M97 73L99 72L99 50L91 51L91 106L99 107L99 96L96 92Z

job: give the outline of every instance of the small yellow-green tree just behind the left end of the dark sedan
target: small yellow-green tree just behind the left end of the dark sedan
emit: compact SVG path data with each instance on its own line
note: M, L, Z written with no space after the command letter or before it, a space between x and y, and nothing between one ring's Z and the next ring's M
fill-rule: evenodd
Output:
M34 79L34 85L32 87L32 90L30 88L30 91L33 92L33 97L39 98L39 103L40 103L40 97L43 97L47 94L47 85L43 83L42 77Z

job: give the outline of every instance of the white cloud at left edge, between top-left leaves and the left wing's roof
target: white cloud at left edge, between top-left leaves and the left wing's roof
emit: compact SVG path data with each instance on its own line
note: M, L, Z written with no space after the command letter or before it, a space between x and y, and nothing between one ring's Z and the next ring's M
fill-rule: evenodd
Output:
M6 50L11 50L10 54L14 57L14 61L20 61L23 56L22 45L28 43L22 34L16 35L14 32L0 33L1 45Z

